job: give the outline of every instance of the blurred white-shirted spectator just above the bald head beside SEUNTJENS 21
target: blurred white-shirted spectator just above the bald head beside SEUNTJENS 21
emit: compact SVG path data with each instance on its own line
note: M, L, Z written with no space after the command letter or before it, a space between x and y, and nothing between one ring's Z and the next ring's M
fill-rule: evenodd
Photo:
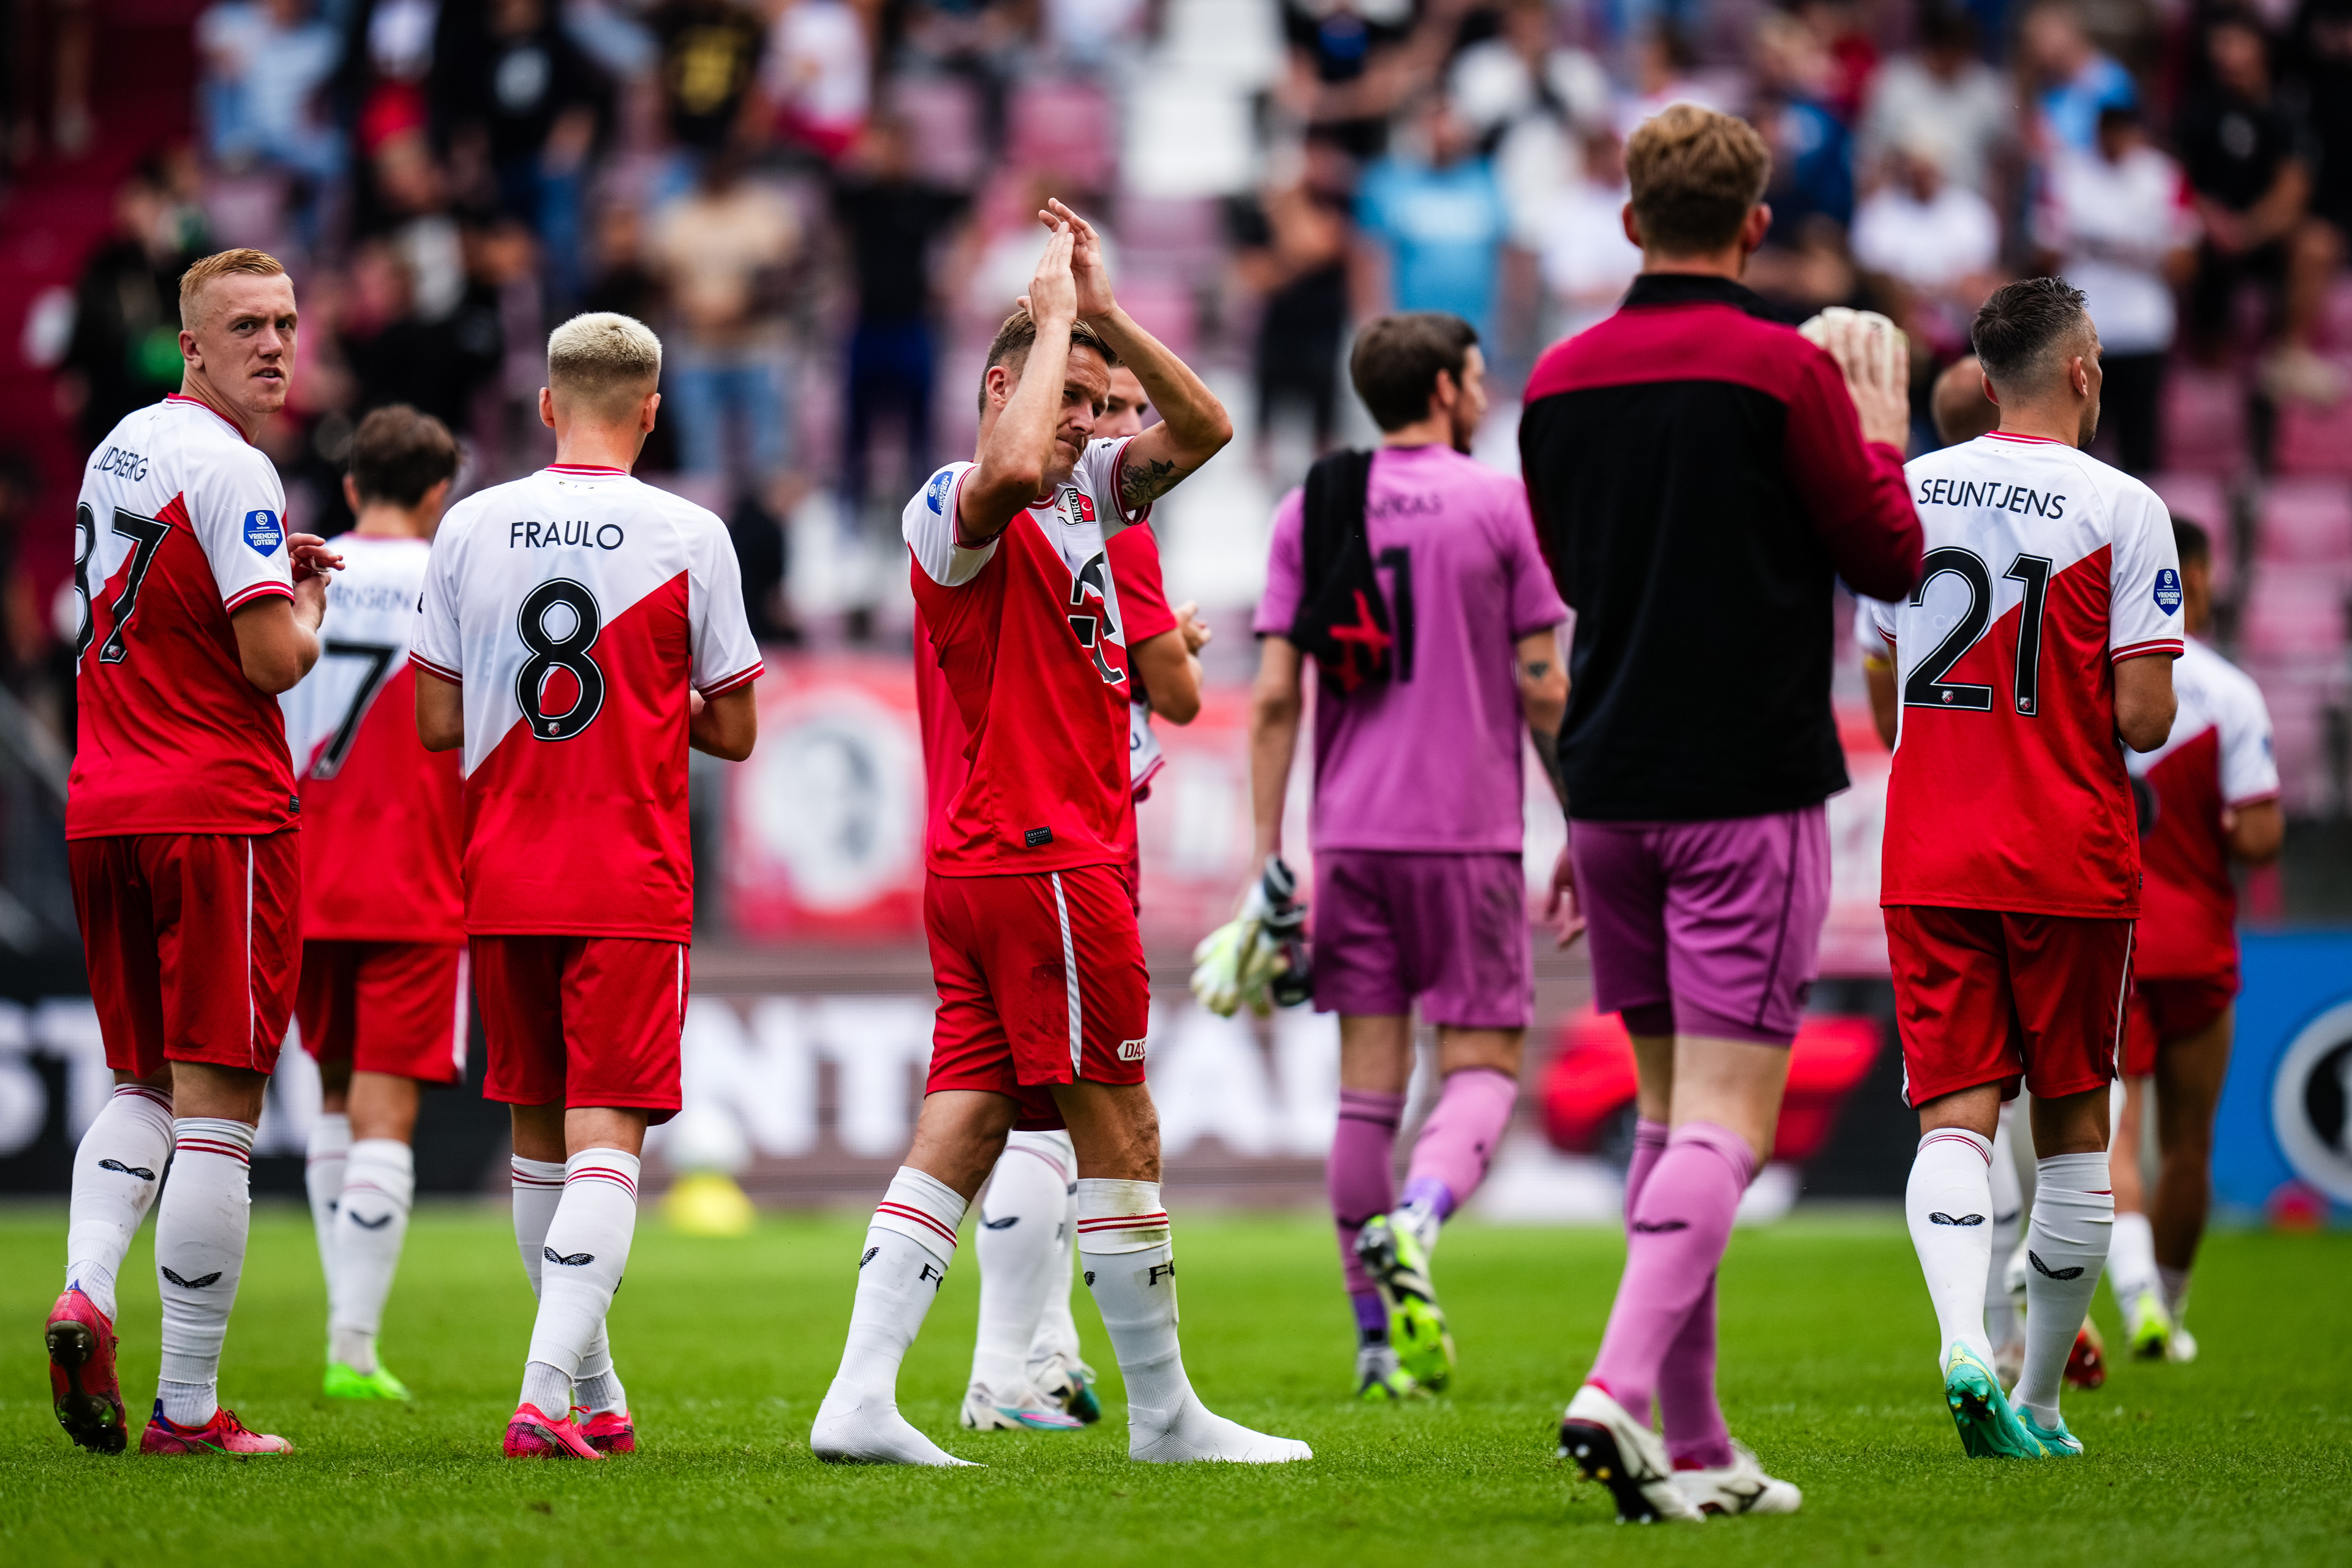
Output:
M1879 277L1891 315L1938 355L1966 353L1969 324L2002 261L1992 202L1945 176L1950 150L1915 132L1891 179L1853 214L1853 263Z

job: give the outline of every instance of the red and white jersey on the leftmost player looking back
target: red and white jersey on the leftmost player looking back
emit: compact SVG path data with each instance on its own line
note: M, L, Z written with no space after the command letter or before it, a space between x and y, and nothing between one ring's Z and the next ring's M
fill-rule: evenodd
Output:
M278 468L207 404L127 414L73 508L78 743L66 837L278 832L299 820L278 698L230 611L294 595Z

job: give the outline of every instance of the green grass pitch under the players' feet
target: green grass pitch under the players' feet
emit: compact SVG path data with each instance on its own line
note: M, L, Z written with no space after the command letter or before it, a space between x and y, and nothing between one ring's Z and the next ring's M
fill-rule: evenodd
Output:
M612 1335L644 1448L609 1465L499 1458L529 1335L503 1215L426 1208L388 1312L414 1408L318 1399L325 1300L308 1218L263 1208L223 1392L285 1460L96 1458L49 1415L38 1324L64 1211L0 1213L0 1559L9 1563L1745 1563L2002 1554L2049 1568L2352 1561L2352 1237L2220 1234L2197 1286L2204 1359L2114 1366L2070 1394L2089 1458L1966 1462L1938 1401L1933 1319L1893 1220L1740 1232L1724 1265L1724 1403L1795 1519L1623 1530L1552 1458L1621 1248L1602 1232L1463 1225L1439 1284L1463 1371L1411 1408L1345 1401L1329 1232L1305 1218L1178 1227L1185 1352L1207 1401L1315 1443L1270 1472L1127 1462L1077 1436L955 1429L976 1274L957 1267L908 1359L908 1415L988 1469L835 1469L807 1453L840 1356L861 1225L771 1215L748 1241L647 1213ZM146 1241L125 1276L134 1422L155 1378ZM2105 1312L2105 1300L2100 1305ZM2110 1335L2114 1326L2110 1321Z

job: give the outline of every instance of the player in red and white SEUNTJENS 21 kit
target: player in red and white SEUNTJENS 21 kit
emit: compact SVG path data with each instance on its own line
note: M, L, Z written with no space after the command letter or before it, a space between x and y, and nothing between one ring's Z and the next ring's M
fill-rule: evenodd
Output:
M1905 468L1926 524L1907 602L1872 607L1898 708L1882 903L1919 1107L1905 1208L1971 1455L2082 1453L2058 1415L2107 1260L2107 1084L2131 983L2140 844L2124 752L2173 724L2180 569L2138 480L2082 454L2098 331L2053 277L1997 289L1976 355L1999 430ZM1992 1133L2032 1088L2025 1373L1985 1338Z

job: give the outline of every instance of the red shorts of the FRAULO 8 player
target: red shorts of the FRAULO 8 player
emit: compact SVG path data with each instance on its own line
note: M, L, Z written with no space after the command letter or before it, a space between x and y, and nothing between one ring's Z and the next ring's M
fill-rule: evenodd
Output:
M677 1114L687 945L635 936L477 936L473 999L506 1105Z

